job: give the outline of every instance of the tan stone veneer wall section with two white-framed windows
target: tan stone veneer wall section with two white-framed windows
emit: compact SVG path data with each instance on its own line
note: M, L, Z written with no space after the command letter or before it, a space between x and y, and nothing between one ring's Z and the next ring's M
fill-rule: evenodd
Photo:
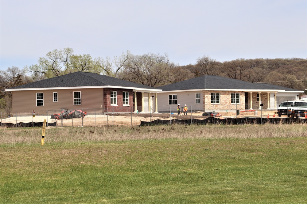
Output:
M240 104L237 104L237 109L245 109L244 91L204 91L204 110L213 110L213 104L211 104L211 93L220 93L220 104L214 104L214 109L216 110L235 110L236 105L231 104L231 93L240 93Z

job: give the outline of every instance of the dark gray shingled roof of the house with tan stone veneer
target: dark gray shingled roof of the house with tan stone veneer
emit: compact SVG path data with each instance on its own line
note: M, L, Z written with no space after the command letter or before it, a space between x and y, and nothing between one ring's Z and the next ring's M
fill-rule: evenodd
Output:
M188 79L185 81L179 81L173 84L158 87L163 91L175 91L175 90L192 90L192 89L240 89L240 90L287 90L287 91L299 91L296 89L290 89L282 86L276 86L271 84L250 83L247 81L240 81L236 79L216 76L216 75L204 75Z

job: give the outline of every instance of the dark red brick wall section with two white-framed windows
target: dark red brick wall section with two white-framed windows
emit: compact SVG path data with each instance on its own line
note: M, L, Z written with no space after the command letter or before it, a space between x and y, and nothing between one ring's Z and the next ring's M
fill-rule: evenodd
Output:
M117 106L111 105L110 92L117 92ZM129 106L123 106L122 104L122 92L129 92ZM114 89L114 88L104 88L103 89L103 106L104 108L108 108L108 112L112 112L114 108L114 112L131 112L133 109L133 91L131 89Z

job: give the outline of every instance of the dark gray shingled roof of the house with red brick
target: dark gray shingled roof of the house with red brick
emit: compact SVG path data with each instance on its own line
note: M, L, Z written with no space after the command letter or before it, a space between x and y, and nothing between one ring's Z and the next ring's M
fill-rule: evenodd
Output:
M90 72L74 72L71 74L65 74L62 76L36 81L29 84L15 86L10 89L35 89L80 86L123 86L139 89L155 89L150 86Z

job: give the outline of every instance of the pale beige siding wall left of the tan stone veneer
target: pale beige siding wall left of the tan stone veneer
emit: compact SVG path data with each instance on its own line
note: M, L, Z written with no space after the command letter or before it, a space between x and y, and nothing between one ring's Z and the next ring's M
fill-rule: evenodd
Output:
M196 93L200 93L200 104L196 104ZM203 108L203 92L202 91L186 91L186 92L169 92L169 93L158 93L158 111L165 112L169 111L169 106L171 107L171 112L177 111L177 104L169 105L169 95L177 94L177 104L180 106L185 106L187 104L188 110L198 110L202 111Z

